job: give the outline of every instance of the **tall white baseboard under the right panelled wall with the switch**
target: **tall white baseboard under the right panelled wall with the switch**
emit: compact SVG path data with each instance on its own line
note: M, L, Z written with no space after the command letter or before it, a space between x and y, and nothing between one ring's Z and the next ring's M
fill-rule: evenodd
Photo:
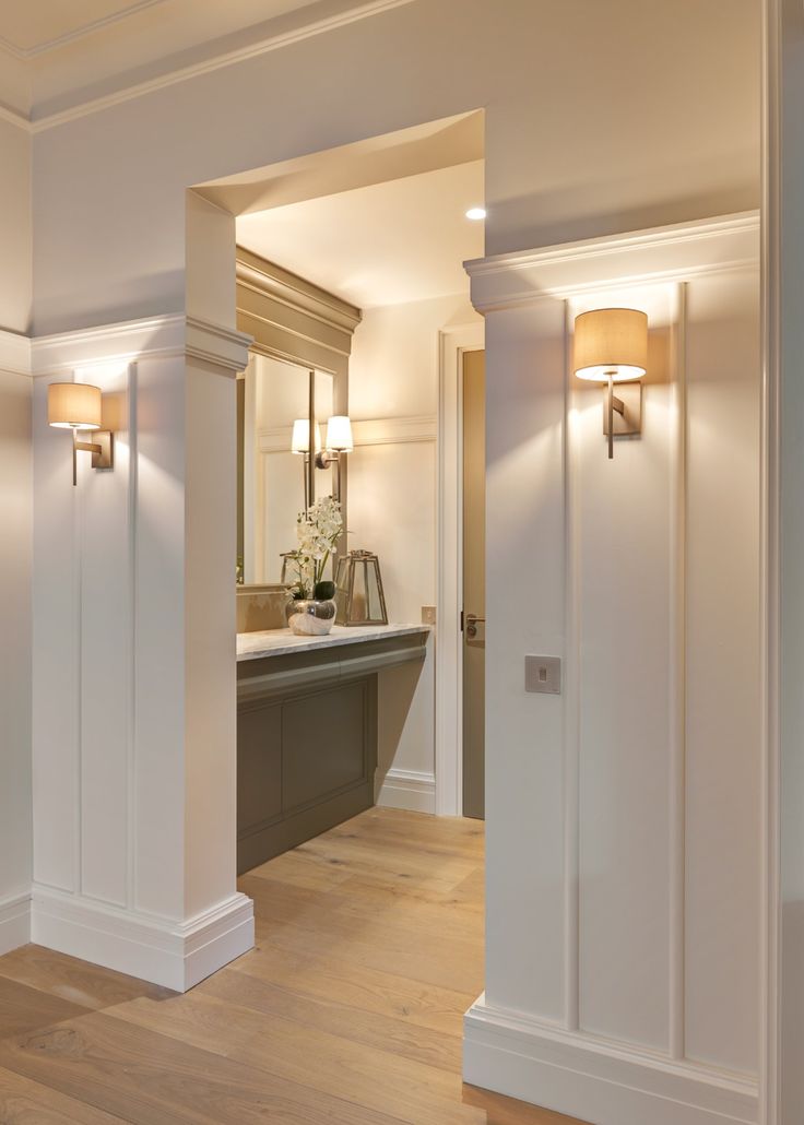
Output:
M756 1125L756 1081L553 1028L485 997L464 1017L463 1078L594 1125Z

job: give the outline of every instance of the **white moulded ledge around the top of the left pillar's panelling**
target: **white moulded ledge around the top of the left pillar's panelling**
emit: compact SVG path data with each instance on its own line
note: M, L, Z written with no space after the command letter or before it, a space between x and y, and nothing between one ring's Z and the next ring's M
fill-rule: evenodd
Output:
M175 313L35 338L30 341L30 374L44 376L178 356L235 372L249 362L250 344L251 336L243 332Z

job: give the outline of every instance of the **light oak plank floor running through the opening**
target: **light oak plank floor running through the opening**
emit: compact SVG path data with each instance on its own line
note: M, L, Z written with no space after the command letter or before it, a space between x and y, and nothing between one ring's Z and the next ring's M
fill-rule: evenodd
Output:
M241 880L256 948L186 996L0 957L0 1123L570 1125L461 1083L482 826L372 809Z

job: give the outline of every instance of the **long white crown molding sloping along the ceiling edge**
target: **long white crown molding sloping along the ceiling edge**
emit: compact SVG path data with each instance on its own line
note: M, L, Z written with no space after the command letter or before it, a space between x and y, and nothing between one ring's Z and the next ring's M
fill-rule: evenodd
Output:
M43 133L46 129L56 128L67 122L74 122L81 117L98 114L103 109L109 109L110 107L118 106L125 101L132 101L133 99L141 98L144 94L153 93L156 90L163 90L178 82L186 82L189 79L198 78L202 74L210 74L214 71L222 70L226 66L233 66L236 63L256 58L271 51L280 51L283 47L301 43L316 35L324 35L327 32L333 32L341 27L347 27L350 24L358 22L359 20L369 19L372 16L379 16L382 12L392 10L394 8L401 8L414 2L416 2L416 0L368 0L368 2L350 8L336 16L328 16L323 19L315 20L311 24L293 28L289 32L277 33L260 39L256 43L250 44L247 47L240 47L236 51L224 52L202 62L193 63L189 66L181 66L177 70L162 74L159 78L150 79L144 82L135 82L121 90L116 90L114 93L103 94L102 97L91 98L87 101L80 102L72 106L70 109L64 109L54 114L45 114L42 117L37 117L34 111L28 120L28 127L31 133Z

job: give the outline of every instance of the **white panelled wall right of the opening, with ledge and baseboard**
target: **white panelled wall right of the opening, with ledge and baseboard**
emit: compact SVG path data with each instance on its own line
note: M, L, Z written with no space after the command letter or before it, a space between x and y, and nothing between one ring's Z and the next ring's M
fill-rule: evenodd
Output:
M758 220L470 272L487 321L497 705L467 1078L603 1125L755 1122ZM643 431L613 461L603 388L571 374L575 316L608 305L650 323ZM562 658L561 695L524 693L527 652Z

